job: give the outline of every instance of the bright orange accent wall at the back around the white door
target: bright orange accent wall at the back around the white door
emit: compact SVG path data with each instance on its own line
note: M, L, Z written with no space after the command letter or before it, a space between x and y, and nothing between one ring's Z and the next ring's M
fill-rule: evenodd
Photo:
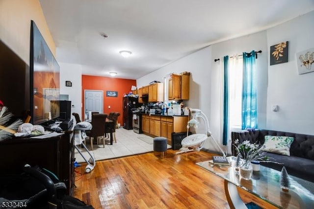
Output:
M102 90L104 91L104 113L119 112L118 123L122 126L122 98L124 94L130 93L132 85L136 86L136 80L82 75L82 118L84 118L85 107L84 90ZM106 91L117 91L118 97L106 97Z

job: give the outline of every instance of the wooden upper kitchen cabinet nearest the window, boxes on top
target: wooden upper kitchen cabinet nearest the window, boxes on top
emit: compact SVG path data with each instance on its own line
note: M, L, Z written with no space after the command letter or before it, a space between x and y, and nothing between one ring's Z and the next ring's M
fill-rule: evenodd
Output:
M168 100L188 100L189 89L189 75L172 74L168 81Z

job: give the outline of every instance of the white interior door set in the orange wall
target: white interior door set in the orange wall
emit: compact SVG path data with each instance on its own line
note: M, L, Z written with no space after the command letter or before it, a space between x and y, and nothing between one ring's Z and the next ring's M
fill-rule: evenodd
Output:
M85 114L88 111L97 111L99 113L103 113L104 107L104 91L98 90L85 90Z

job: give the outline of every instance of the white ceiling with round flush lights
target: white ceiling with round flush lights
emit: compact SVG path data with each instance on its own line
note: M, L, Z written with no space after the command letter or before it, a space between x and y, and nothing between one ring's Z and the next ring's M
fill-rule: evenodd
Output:
M314 0L39 1L58 62L80 64L83 75L114 71L129 79L314 10ZM123 58L121 50L131 57Z

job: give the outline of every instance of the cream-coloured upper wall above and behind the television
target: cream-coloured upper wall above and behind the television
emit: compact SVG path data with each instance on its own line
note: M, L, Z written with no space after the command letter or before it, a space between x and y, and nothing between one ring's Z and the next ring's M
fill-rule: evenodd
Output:
M39 1L0 0L0 39L27 65L29 65L30 20L35 22L55 56L55 44Z

